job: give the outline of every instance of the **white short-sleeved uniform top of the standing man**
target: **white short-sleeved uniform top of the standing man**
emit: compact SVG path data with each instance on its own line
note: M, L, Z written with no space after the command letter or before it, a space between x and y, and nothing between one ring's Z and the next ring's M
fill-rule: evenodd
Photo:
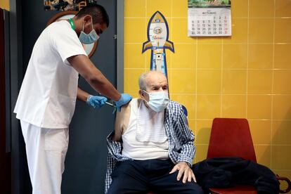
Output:
M67 62L86 51L70 23L53 22L34 44L14 112L37 127L67 128L75 111L78 72Z

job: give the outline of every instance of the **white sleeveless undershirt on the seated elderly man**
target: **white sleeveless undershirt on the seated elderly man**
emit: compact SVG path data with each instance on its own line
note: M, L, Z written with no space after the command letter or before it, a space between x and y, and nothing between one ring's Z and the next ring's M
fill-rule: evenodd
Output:
M143 112L141 109L146 108L143 101L138 107L138 99L134 98L130 102L131 112L129 117L129 124L127 130L122 134L122 155L130 157L134 160L150 160L150 159L160 159L165 160L169 158L169 141L164 134L164 141L153 142L153 141L143 141L138 140L136 132L138 130L138 122L144 119L148 120L148 117L144 117L146 114L151 114L150 112ZM144 109L143 109L144 110ZM164 111L156 114L164 114ZM162 119L161 121L158 119ZM164 126L160 127L160 122L164 122L164 117L157 117L155 120L158 123L158 126L155 127L155 124L148 124L145 122L143 127L148 131L153 130L165 130ZM143 121L142 121L143 122ZM144 123L144 122L143 122ZM162 132L154 133L162 134Z

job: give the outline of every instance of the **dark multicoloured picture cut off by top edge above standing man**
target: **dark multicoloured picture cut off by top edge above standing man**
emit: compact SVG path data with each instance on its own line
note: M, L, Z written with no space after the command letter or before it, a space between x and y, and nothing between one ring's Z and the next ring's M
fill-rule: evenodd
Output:
M80 11L89 4L96 4L97 0L44 0L44 10Z

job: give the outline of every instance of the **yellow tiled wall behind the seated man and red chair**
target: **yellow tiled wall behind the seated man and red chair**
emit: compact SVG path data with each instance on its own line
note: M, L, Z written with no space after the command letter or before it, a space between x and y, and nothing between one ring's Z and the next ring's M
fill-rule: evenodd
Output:
M187 0L125 0L124 89L138 95L148 20L166 17L169 91L188 108L195 162L204 160L214 117L250 122L258 162L291 178L291 1L232 0L232 37L187 37Z

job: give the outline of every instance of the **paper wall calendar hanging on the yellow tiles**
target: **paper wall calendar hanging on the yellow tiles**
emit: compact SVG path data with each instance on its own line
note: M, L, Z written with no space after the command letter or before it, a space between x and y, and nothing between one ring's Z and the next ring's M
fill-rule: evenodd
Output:
M231 0L188 0L188 37L231 36Z

